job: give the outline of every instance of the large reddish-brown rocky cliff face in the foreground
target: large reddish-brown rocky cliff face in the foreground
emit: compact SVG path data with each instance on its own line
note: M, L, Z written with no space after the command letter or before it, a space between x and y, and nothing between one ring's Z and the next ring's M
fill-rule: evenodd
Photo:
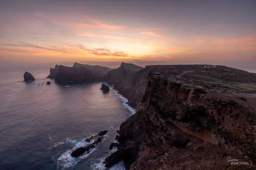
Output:
M228 156L256 162L256 119L248 108L218 92L149 74L106 166L125 160L128 169L227 169Z

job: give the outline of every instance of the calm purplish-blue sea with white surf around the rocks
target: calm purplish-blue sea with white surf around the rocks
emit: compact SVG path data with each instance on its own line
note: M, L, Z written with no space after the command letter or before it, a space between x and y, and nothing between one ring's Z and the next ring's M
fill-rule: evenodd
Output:
M134 110L115 90L100 91L101 83L56 84L49 70L0 70L0 169L105 169L116 130ZM25 71L36 80L23 82ZM70 157L102 130L109 132L93 152Z

